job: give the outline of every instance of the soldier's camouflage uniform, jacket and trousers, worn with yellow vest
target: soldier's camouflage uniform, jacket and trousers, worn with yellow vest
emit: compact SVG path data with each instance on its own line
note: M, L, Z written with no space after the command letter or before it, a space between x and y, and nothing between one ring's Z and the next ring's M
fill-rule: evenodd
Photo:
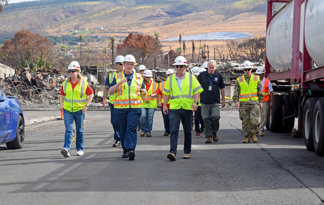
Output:
M249 84L251 77L246 77L244 75L245 80ZM240 94L240 86L238 81L235 82L233 101L234 103L238 103ZM263 103L263 93L262 93L262 85L261 82L258 82L258 97L260 103ZM252 101L251 99L247 102L239 102L240 107L239 117L242 120L242 129L244 137L249 136L251 133L257 133L258 125L259 125L259 116L260 116L260 108L259 101Z

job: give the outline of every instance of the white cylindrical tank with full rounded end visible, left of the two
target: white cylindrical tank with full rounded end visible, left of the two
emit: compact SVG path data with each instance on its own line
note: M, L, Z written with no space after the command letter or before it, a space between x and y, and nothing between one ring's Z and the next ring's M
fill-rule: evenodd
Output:
M300 24L300 39L303 39L303 15L304 4L301 7L302 21ZM276 71L291 69L292 42L293 42L293 17L294 1L286 5L277 13L269 24L266 36L266 54L271 67ZM300 52L302 46L300 42ZM302 63L299 60L299 73L301 73Z

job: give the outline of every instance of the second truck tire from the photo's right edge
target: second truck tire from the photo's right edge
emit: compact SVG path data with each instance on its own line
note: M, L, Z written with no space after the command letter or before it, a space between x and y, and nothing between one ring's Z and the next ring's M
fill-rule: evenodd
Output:
M309 98L306 102L303 113L303 138L305 146L309 151L314 151L313 118L317 100L318 98Z

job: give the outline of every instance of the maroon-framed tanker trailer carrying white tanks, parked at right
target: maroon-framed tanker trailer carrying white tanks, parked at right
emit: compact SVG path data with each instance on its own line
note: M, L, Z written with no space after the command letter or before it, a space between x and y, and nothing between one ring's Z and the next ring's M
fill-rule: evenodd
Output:
M272 16L276 2L284 1L269 0L267 14L266 77L274 83L276 92L267 129L302 135L307 149L322 156L324 1L285 1L288 3ZM293 129L295 117L297 129Z

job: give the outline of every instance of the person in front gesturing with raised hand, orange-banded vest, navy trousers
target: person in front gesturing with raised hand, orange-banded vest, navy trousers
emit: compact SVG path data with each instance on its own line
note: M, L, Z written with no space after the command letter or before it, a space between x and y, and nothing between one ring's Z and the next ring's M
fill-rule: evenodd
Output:
M142 76L133 71L134 65L137 65L134 56L126 55L121 63L124 64L124 71L117 73L110 83L109 94L114 95L116 124L123 148L121 157L134 160L136 128L142 114L141 95L145 95L146 90Z

